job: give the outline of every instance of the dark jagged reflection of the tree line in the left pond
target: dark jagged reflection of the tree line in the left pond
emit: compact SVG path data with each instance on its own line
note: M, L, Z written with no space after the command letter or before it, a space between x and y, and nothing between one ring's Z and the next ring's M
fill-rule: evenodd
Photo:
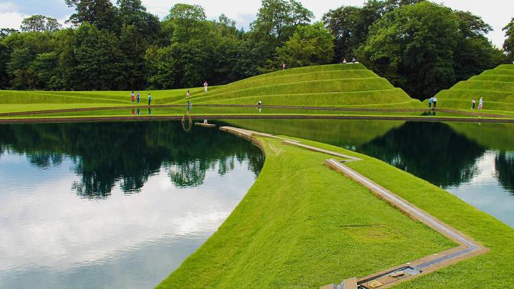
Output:
M216 164L223 174L249 160L257 174L264 160L241 138L201 128L186 134L178 122L3 125L0 147L40 167L59 165L66 155L81 177L73 190L85 197L106 197L117 183L138 192L162 166L175 186L198 186Z

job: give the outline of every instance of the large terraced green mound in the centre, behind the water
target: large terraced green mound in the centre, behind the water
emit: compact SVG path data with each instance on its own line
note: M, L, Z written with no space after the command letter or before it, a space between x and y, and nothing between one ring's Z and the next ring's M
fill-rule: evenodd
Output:
M362 64L293 68L258 75L193 95L194 103L313 105L338 107L419 108L387 79ZM185 101L182 99L181 101Z

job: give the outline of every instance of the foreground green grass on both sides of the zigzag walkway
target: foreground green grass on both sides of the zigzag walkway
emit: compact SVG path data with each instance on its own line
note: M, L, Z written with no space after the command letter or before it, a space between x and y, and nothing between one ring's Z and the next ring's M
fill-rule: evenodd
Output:
M267 158L256 184L158 288L319 288L453 246L328 170L326 155L262 141ZM363 160L348 165L491 249L395 288L511 288L514 229L437 186L358 156Z

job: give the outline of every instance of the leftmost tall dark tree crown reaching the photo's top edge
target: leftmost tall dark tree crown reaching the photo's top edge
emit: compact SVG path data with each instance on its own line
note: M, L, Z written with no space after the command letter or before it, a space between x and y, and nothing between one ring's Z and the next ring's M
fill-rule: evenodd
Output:
M117 30L117 9L110 0L64 0L66 5L75 9L68 21L74 25L90 23L98 29Z

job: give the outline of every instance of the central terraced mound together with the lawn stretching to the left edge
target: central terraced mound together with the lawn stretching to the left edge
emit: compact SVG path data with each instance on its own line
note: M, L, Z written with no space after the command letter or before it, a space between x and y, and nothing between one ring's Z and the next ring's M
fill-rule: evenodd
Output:
M140 91L141 104L151 93L152 105L193 103L311 105L373 108L419 108L387 79L362 64L334 64L293 68L237 81L226 86ZM10 91L0 90L0 112L131 105L129 91Z

